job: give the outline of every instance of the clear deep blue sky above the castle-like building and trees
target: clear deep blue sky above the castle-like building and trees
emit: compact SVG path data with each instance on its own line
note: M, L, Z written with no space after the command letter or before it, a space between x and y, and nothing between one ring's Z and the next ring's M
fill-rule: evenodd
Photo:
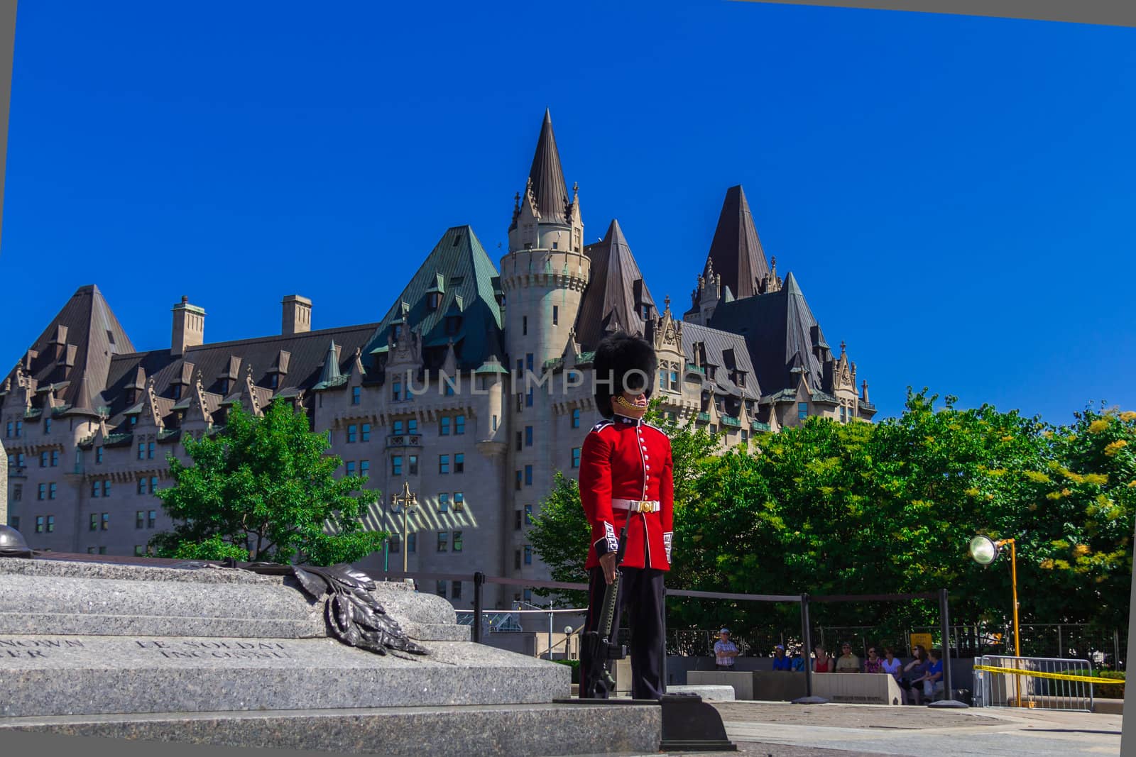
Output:
M0 364L91 283L141 350L183 294L377 321L448 227L496 255L545 107L657 301L742 184L883 415L1136 409L1136 30L717 0L23 3Z

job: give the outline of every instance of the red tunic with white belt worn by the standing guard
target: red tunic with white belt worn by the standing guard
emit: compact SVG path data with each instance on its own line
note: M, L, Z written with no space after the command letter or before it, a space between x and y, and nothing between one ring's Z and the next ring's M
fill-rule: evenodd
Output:
M596 423L584 438L579 461L579 498L592 525L585 567L615 552L628 510L612 498L658 502L655 512L634 512L627 527L626 567L670 570L674 482L670 439L641 420L616 415Z

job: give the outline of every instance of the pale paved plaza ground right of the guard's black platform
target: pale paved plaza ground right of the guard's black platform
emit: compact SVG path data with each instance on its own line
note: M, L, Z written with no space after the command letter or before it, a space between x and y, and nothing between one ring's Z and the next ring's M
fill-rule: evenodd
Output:
M713 703L740 755L1119 755L1120 715L1038 709ZM719 752L721 754L721 752Z

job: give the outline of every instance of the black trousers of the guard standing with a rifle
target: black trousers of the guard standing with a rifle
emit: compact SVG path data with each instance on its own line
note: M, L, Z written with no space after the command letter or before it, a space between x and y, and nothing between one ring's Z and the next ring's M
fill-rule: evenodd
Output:
M634 699L662 699L663 654L663 571L657 569L621 567L619 594L616 597L616 621L613 637L626 620L632 631L628 651L632 656L632 697ZM588 571L588 603L586 629L600 626L600 609L603 606L603 569ZM615 638L612 639L615 640ZM579 691L586 696L590 654L580 646Z

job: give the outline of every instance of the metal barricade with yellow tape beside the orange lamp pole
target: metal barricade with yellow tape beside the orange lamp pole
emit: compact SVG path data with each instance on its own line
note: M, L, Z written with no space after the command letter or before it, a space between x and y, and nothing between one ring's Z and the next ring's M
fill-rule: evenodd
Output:
M985 655L975 658L975 707L1093 712L1093 684L1071 680L1092 678L1087 659Z

